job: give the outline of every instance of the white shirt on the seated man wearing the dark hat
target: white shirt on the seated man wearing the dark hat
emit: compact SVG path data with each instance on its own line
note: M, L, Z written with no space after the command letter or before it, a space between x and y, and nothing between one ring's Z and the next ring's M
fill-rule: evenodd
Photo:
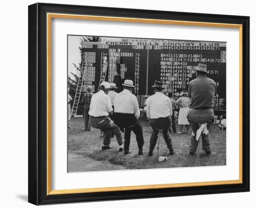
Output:
M147 99L146 111L150 119L166 118L172 115L172 103L169 97L156 92Z

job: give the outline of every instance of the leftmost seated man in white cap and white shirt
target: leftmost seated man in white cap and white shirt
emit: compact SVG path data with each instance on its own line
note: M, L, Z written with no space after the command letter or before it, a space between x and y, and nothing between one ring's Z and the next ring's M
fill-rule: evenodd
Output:
M110 145L111 132L113 131L117 143L119 144L119 151L122 151L122 136L118 126L109 118L109 114L112 114L113 108L111 107L111 101L108 97L110 84L107 81L101 83L101 90L92 96L90 104L90 123L94 128L99 128L104 132L102 150L113 148Z

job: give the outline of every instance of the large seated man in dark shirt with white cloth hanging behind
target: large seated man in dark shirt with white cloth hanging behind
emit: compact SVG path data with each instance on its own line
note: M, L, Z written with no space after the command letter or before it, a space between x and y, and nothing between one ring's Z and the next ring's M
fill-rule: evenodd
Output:
M191 98L188 119L192 128L189 153L194 154L202 134L202 149L210 154L209 127L214 121L213 102L216 95L215 81L207 77L207 65L199 63L196 78L189 82L188 97Z

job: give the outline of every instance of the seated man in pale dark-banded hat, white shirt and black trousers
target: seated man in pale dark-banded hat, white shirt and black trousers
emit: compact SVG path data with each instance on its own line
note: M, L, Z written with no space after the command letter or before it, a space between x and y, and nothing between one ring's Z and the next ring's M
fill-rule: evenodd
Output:
M139 155L144 153L143 145L143 132L142 127L138 121L140 116L139 104L136 96L132 94L132 89L135 87L133 81L125 80L123 91L116 95L114 100L115 107L115 124L121 129L125 128L124 135L124 154L130 154L132 150L129 149L131 131L136 135L138 143Z

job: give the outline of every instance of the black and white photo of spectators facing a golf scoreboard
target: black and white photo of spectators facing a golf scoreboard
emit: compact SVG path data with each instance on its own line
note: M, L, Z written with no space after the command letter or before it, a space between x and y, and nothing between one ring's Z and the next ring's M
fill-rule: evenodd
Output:
M225 166L226 47L67 35L67 172Z

